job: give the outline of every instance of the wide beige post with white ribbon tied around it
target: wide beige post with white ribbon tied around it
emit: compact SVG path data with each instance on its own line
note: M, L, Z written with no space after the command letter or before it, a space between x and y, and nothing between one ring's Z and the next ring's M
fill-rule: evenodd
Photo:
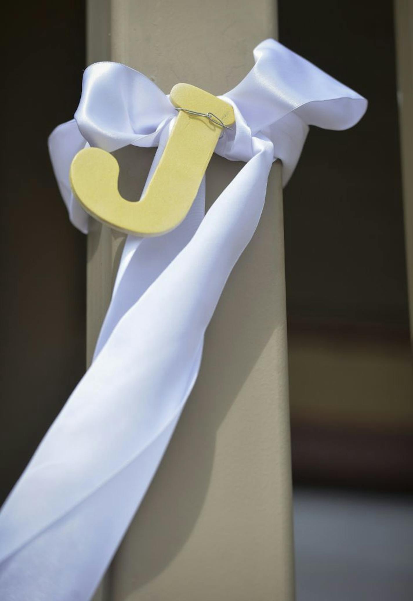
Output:
M277 34L273 1L89 0L88 61L140 70L165 92L214 94ZM124 194L139 196L153 153L117 153ZM214 156L207 204L241 168ZM89 356L122 239L89 234ZM291 601L294 597L280 164L256 234L206 332L202 368L172 442L96 599Z

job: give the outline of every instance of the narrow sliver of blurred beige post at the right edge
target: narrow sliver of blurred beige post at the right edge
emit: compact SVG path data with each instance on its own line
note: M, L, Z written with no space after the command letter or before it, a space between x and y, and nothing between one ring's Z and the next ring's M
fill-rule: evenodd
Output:
M413 1L395 0L394 16L410 335L413 343Z

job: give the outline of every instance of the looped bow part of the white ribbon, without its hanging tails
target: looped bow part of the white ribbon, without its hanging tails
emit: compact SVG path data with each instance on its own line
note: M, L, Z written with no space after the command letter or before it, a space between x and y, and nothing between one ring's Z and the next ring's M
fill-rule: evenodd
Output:
M234 107L234 132L227 131L216 153L247 162L262 144L273 144L283 163L283 185L297 165L309 126L346 129L357 123L367 101L276 40L254 50L255 66L221 98ZM74 120L57 127L49 139L56 179L70 219L88 230L88 216L68 186L71 159L87 144L112 152L129 144L157 146L176 116L166 94L151 79L119 63L95 63L83 75L82 97ZM268 151L268 149L267 149Z

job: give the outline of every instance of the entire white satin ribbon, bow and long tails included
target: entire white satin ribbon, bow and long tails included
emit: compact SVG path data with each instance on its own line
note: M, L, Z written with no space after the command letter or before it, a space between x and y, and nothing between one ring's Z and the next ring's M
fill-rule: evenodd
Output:
M0 513L0 598L79 601L92 596L139 507L196 380L203 334L261 216L273 160L288 180L309 125L351 127L357 93L275 40L223 99L236 127L216 152L246 165L204 216L205 180L178 228L128 236L94 361L47 432ZM86 144L108 151L156 146L175 109L141 73L116 63L86 69L75 119L49 138L70 219L88 216L68 171ZM271 199L270 199L271 201Z

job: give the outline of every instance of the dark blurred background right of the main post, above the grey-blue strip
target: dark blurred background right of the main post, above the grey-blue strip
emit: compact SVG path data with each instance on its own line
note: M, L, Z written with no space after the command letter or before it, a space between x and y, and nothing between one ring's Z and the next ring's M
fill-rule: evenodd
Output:
M411 492L393 3L279 0L279 38L369 100L348 131L312 128L285 189L295 483Z

